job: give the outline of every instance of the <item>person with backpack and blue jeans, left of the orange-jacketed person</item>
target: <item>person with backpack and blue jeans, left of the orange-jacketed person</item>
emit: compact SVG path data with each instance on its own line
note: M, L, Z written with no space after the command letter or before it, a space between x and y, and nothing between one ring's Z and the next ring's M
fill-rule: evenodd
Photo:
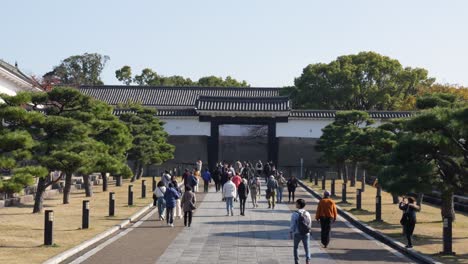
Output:
M306 202L304 199L297 199L296 208L298 209L291 215L291 224L289 227L289 238L294 240L294 263L299 263L298 248L299 242L302 241L304 246L306 264L310 263L310 227L312 225L312 218L309 212L304 207Z

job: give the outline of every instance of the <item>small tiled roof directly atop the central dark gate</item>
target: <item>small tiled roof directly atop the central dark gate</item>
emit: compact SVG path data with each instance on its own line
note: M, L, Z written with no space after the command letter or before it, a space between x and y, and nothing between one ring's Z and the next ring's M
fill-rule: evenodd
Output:
M284 112L291 110L288 97L213 97L200 96L197 111L259 111Z

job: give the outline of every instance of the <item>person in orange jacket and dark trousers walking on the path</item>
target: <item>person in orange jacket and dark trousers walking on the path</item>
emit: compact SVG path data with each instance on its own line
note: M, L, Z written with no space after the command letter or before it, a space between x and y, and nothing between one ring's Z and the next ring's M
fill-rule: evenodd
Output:
M315 214L315 219L320 221L320 238L324 248L330 243L331 224L336 221L336 216L336 204L330 198L330 192L325 191Z

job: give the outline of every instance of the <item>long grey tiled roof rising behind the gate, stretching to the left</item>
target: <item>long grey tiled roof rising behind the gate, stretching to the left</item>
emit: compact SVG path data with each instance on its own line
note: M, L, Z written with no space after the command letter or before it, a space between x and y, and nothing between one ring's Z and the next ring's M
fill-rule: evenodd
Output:
M80 91L111 105L132 102L147 106L195 106L199 96L276 97L281 88L81 86Z

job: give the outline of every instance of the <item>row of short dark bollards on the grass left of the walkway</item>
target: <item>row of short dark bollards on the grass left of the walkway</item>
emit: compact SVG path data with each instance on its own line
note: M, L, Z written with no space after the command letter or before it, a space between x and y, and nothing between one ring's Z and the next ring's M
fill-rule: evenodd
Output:
M120 177L118 177L120 178ZM118 179L117 178L117 179ZM117 185L119 186L119 185ZM153 176L153 190L156 188L156 179ZM146 181L141 181L141 198L146 198ZM133 185L128 186L128 206L133 205ZM109 216L115 216L115 193L109 192ZM81 217L81 228L89 228L89 217L90 217L90 202L89 200L83 201L82 206L82 217ZM44 216L44 245L50 246L53 244L53 223L54 223L54 211L46 210Z

